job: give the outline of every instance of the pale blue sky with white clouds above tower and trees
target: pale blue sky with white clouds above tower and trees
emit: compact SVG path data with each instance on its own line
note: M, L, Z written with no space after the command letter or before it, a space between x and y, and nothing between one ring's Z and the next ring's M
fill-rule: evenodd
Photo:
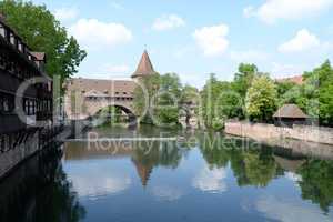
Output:
M333 0L33 2L46 4L87 50L74 77L129 78L144 49L155 71L199 88L210 73L232 80L241 62L275 79L333 60Z

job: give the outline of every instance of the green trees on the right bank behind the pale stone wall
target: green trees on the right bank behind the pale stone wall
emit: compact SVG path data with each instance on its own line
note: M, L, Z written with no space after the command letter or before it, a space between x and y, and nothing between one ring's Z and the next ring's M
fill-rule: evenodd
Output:
M303 84L274 82L255 64L239 65L232 82L211 74L201 91L201 114L209 129L221 130L226 119L272 122L274 112L286 103L297 104L321 125L333 127L333 68L330 61L305 72Z

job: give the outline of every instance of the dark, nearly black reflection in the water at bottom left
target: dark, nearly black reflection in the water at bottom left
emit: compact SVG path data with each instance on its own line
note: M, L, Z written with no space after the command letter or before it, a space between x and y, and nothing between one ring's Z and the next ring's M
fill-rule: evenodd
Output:
M59 147L34 155L0 183L0 221L77 222L84 218Z

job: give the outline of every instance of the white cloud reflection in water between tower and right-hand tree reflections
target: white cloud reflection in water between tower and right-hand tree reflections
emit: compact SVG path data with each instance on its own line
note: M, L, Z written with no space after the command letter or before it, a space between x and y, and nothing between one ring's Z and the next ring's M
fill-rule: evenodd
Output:
M226 179L225 169L213 169L210 170L204 167L193 180L193 186L204 192L219 193L226 191Z

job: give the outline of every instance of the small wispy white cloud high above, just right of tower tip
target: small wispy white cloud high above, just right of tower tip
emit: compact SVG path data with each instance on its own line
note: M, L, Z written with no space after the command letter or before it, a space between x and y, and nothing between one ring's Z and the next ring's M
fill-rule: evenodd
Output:
M179 27L184 27L185 21L176 14L168 14L158 18L152 24L152 29L157 31L170 30Z

